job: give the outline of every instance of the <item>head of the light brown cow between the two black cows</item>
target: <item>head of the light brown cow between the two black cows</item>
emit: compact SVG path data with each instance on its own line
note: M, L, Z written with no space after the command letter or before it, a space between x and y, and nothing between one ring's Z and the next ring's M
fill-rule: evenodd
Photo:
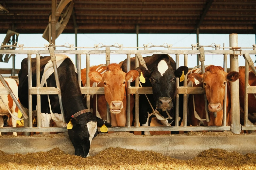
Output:
M134 81L138 75L136 70L131 70L128 73L123 72L119 64L108 65L106 72L102 75L97 71L89 72L92 81L104 84L105 98L109 104L110 112L114 114L120 113L123 108L126 82L128 80Z

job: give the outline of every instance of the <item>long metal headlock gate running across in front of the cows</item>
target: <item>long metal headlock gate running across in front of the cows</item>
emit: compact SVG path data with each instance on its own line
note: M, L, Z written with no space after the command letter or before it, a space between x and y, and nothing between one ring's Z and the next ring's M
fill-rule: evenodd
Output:
M16 44L17 45L17 44ZM41 94L58 94L59 99L61 99L60 88L55 87L40 87L40 54L51 54L51 59L54 64L55 54L76 54L77 55L77 70L78 70L78 82L81 89L82 94L87 95L86 104L90 108L90 94L104 94L104 87L90 87L90 83L87 83L86 87L81 87L81 56L86 55L86 76L87 82L90 82L89 79L89 71L90 71L90 55L95 54L105 54L106 55L106 64L110 64L110 55L116 54L125 54L127 55L127 70L130 70L130 55L135 54L135 67L139 66L139 62L141 65L145 64L144 60L141 59L141 54L175 54L176 55L176 67L179 67L179 57L180 55L184 56L184 66L188 64L188 55L197 54L199 55L199 59L201 62L202 72L204 73L204 61L205 55L207 54L222 54L224 57L224 70L227 71L227 55L230 55L230 71L238 71L238 55L244 55L247 61L249 54L256 54L256 46L252 47L238 47L238 35L230 34L230 47L220 47L220 45L212 44L210 46L201 46L200 44L193 44L192 47L172 47L171 44L163 44L161 46L155 46L150 44L145 44L144 47L123 47L120 44L114 45L103 45L96 44L94 47L74 47L72 44L65 45L53 45L53 44L45 44L44 47L24 47L24 45L18 44L16 48L19 50L0 50L0 54L27 54L28 56L28 81L29 81L29 109L28 109L28 121L25 123L26 127L24 128L0 128L0 132L64 132L67 131L66 128L56 128L56 127L41 127L41 106L40 106L40 95ZM13 45L14 46L14 45ZM53 47L65 47L68 50L54 50ZM162 47L164 50L149 50L149 48ZM204 50L204 47L212 47L215 50ZM44 48L44 50L25 50L31 48ZM105 48L105 50L99 50L101 48ZM115 48L114 50L110 50L110 48ZM83 49L83 50L75 50L75 49ZM133 50L140 49L140 50ZM175 49L175 50L174 50ZM181 50L180 50L181 49ZM185 50L183 50L185 49ZM220 50L222 49L222 50ZM228 50L225 50L228 49ZM244 50L242 50L244 49ZM32 76L31 76L31 55L36 55L37 62L37 86L32 87ZM247 67L248 67L248 62ZM99 63L102 64L102 63ZM249 64L252 66L251 62ZM254 68L254 67L253 67ZM58 87L58 75L57 68L54 68L55 78L57 80ZM57 77L56 77L57 75ZM188 74L187 74L188 75ZM152 87L139 87L139 78L135 80L135 87L131 87L128 82L128 96L127 96L127 127L110 127L109 131L201 131L201 130L218 130L218 131L231 131L233 133L239 134L241 132L241 124L240 124L240 115L239 115L239 81L231 82L231 127L226 126L226 102L224 101L224 115L223 115L223 125L222 126L187 126L187 94L204 94L205 90L201 87L187 87L187 75L184 79L184 87L179 87L179 78L176 78L176 86L177 86L177 94L176 94L176 120L175 126L170 127L139 127L139 95L140 94L152 94ZM248 77L248 72L247 72ZM1 78L1 76L0 76ZM246 87L247 89L251 89L248 93L256 93L256 87ZM0 89L0 94L10 94L10 91L6 89ZM32 95L37 95L37 123L38 127L32 127ZM130 94L135 94L135 127L130 127ZM179 126L178 124L178 107L179 107L179 94L184 94L184 102L183 102L183 126ZM226 99L226 92L225 92ZM248 97L247 97L248 99ZM205 98L205 100L207 100ZM60 100L61 102L61 100ZM206 102L205 102L206 103ZM248 104L248 101L247 101ZM207 108L207 107L206 107ZM208 113L208 112L206 112ZM247 117L247 113L245 114L245 118ZM245 119L246 121L247 119ZM107 121L110 122L110 111L107 108ZM209 113L206 115L206 121L209 120ZM243 130L256 130L255 126L250 126L251 124L245 123L243 126ZM246 128L246 129L245 129Z

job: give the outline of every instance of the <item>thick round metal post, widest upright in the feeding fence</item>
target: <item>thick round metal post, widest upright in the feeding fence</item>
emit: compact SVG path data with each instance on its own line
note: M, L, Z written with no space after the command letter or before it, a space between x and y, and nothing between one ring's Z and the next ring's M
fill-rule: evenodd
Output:
M229 35L230 47L238 47L238 35ZM238 55L230 55L230 71L238 72ZM231 131L240 134L239 81L230 82L231 90Z

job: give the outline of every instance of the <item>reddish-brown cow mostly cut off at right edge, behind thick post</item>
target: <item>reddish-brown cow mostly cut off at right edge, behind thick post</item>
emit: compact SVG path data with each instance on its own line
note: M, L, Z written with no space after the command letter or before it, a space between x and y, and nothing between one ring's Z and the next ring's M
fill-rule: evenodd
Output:
M255 67L256 68L256 67ZM249 67L249 70L251 68ZM240 100L240 122L244 124L244 107L245 107L245 66L239 67L239 100ZM249 81L250 86L256 86L256 77L253 71L249 72ZM256 99L253 94L248 94L248 120L253 124L256 123Z

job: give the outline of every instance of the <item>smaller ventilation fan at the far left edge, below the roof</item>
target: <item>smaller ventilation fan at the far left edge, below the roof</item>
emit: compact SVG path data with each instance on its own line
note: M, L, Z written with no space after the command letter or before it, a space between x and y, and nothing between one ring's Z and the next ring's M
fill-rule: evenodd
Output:
M8 30L3 45L14 45L18 42L19 33ZM0 50L15 50L15 47L1 47ZM9 59L15 54L0 54L0 62L8 63Z

